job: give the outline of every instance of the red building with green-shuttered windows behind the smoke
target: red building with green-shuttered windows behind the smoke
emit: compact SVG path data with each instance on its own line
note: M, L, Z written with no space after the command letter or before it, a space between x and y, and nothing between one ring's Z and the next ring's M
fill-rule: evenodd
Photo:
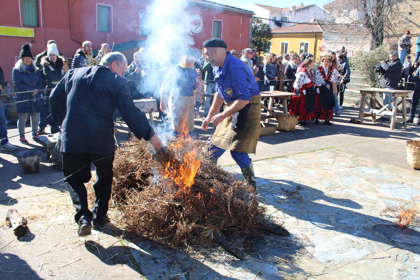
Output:
M86 40L92 42L94 49L103 42L115 42L113 50L125 53L130 60L132 52L147 40L147 36L142 36L141 23L150 3L147 0L2 0L0 66L5 79L11 81L20 46L27 41L32 43L35 56L53 39L66 58L71 58ZM248 10L205 0L188 0L185 9L186 21L194 24L190 28L194 29L192 36L197 49L213 36L223 39L228 49L249 47L252 15Z

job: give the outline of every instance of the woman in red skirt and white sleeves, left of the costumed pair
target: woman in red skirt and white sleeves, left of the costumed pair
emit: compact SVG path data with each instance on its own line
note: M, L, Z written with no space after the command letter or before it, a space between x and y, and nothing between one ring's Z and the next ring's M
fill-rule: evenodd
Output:
M293 83L294 93L297 93L297 95L290 100L290 115L299 116L297 119L299 126L307 126L306 120L314 118L315 84L312 73L313 66L313 58L305 58Z

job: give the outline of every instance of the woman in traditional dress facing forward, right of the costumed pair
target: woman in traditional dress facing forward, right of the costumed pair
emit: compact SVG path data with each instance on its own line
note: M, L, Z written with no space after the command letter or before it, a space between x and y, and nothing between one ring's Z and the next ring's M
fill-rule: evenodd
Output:
M315 94L315 124L319 120L325 120L324 124L332 126L330 120L334 116L333 83L339 78L339 71L331 66L332 58L325 55L321 60L321 66L315 70L315 84L318 86Z

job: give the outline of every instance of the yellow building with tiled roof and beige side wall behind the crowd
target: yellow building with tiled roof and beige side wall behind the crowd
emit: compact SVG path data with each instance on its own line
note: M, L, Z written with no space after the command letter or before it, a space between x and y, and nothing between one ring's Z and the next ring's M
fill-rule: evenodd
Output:
M284 55L311 53L317 60L328 50L339 51L346 47L351 57L356 50L369 50L369 31L360 26L312 20L307 23L273 29L270 52ZM325 46L325 48L324 48Z

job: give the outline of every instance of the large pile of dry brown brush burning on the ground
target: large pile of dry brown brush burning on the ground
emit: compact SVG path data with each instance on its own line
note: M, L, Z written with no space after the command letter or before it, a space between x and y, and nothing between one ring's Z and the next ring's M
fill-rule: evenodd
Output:
M208 245L217 234L255 233L267 224L255 190L208 160L205 141L181 141L178 149L154 153L147 142L133 138L116 152L112 201L126 230L175 247ZM163 174L168 160L185 167L192 145L199 168L189 191L182 191Z

